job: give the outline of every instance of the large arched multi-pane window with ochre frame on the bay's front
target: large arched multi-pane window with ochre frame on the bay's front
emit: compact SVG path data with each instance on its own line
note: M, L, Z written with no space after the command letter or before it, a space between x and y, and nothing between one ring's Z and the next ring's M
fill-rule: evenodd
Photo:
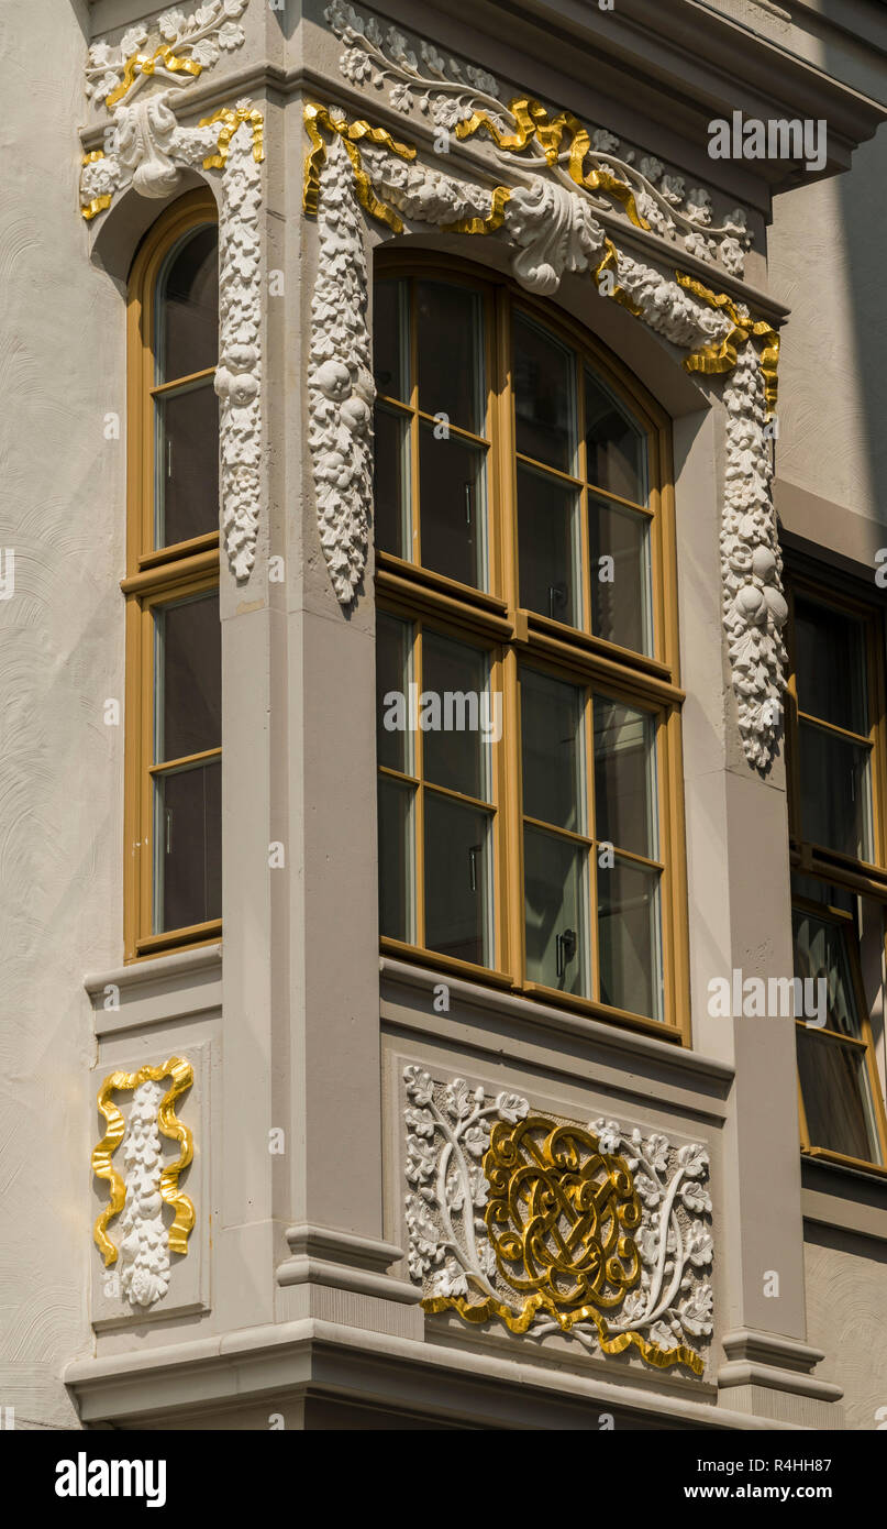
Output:
M388 954L685 1032L667 422L452 261L374 289Z

